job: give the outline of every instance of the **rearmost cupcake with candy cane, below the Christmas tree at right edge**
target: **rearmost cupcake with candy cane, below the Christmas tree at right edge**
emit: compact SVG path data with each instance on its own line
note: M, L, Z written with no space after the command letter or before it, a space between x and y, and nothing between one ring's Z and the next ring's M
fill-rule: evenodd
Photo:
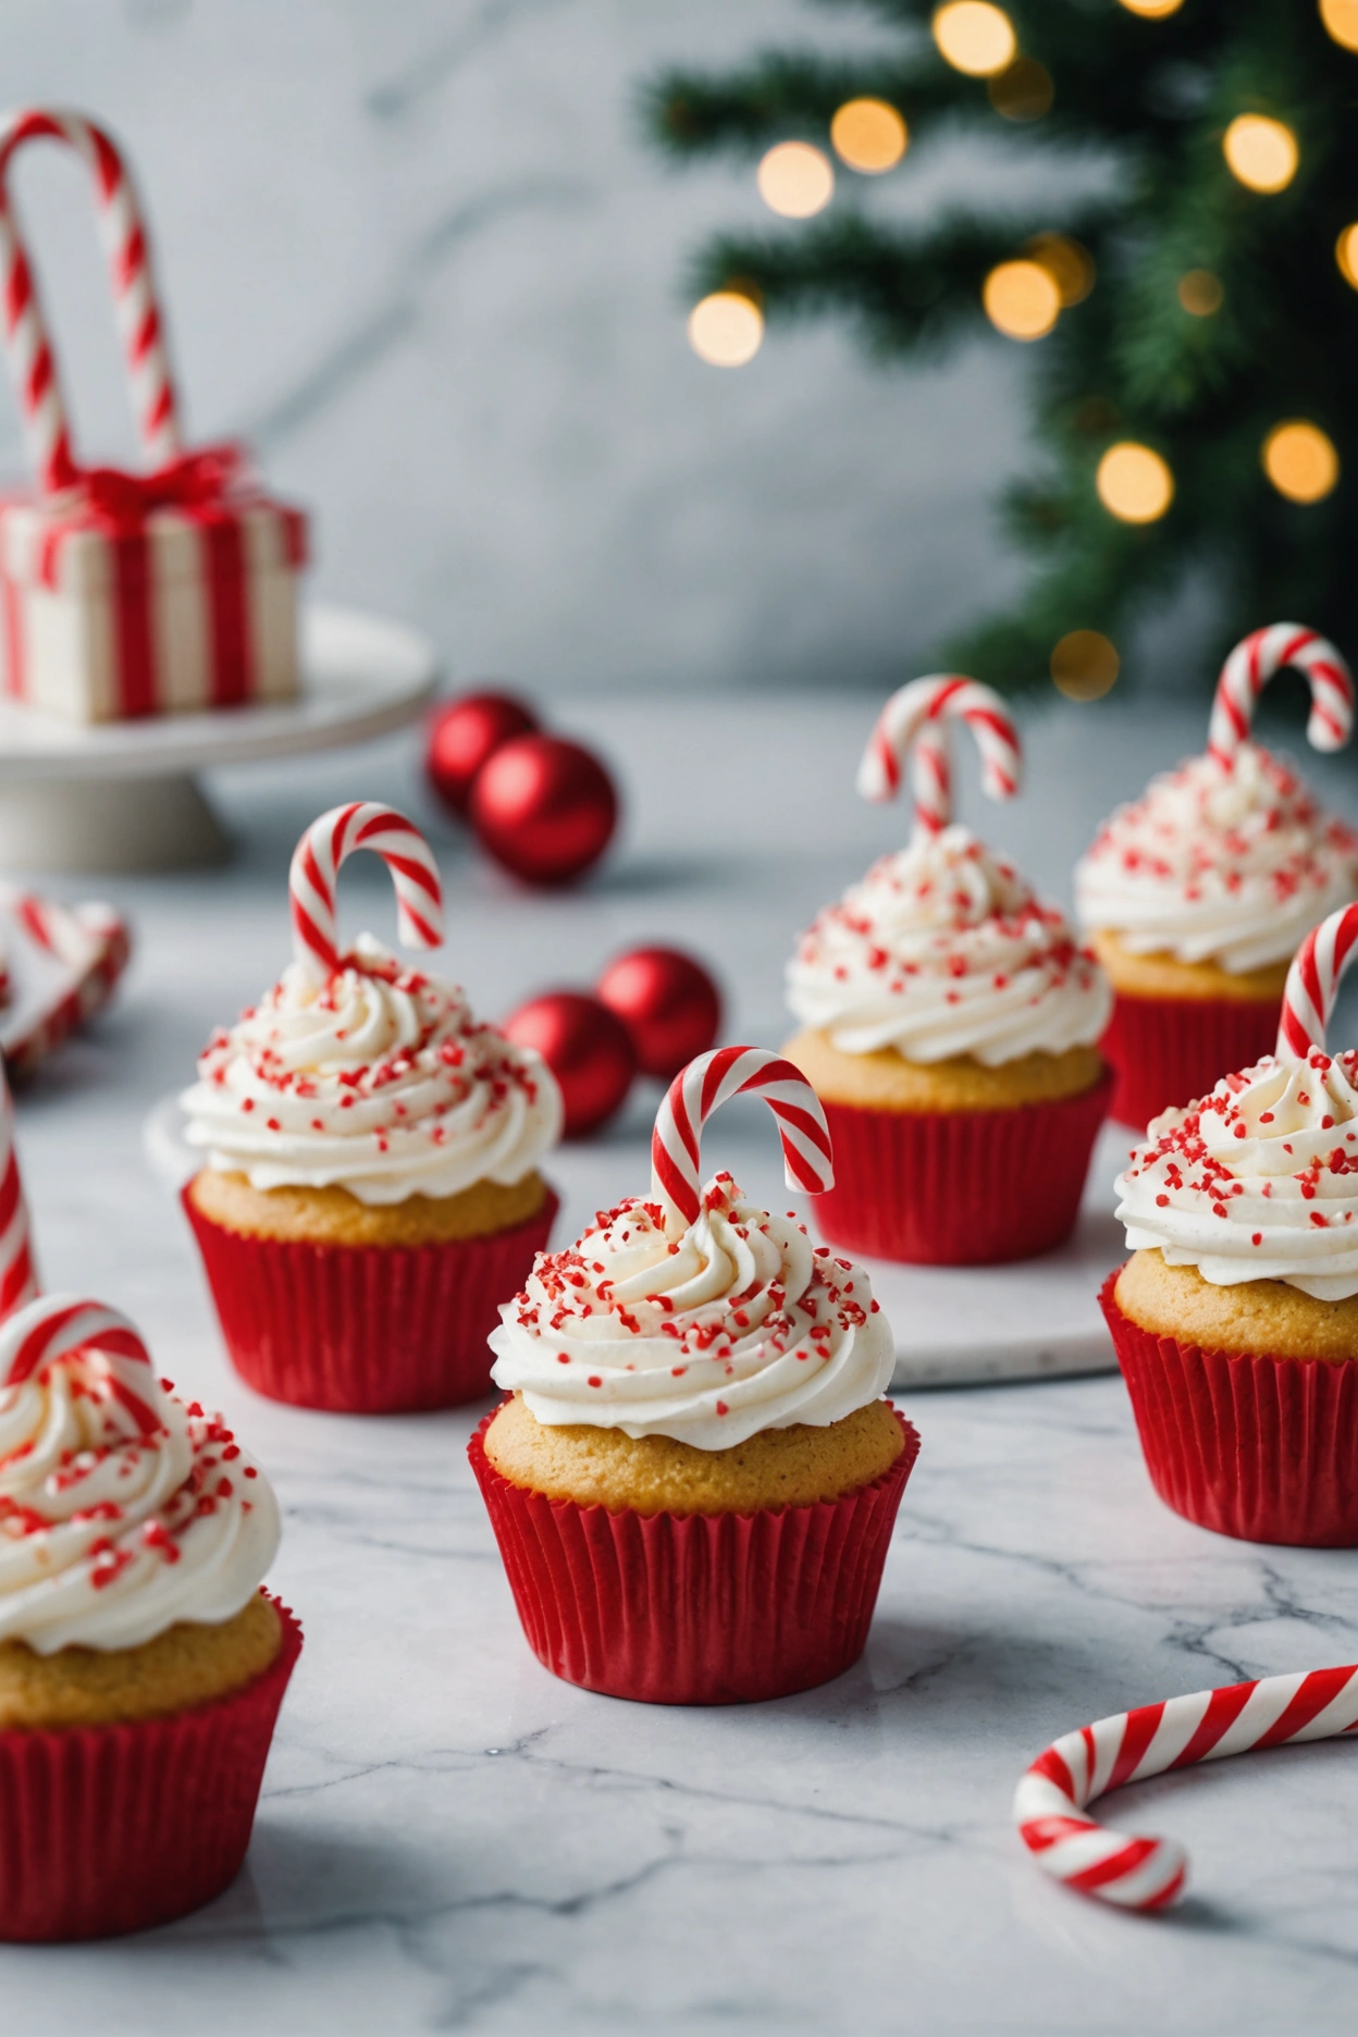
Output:
M1268 1053L1297 943L1358 888L1358 835L1248 739L1260 686L1287 664L1311 682L1315 748L1346 744L1338 650L1295 623L1256 629L1226 660L1207 752L1120 807L1075 870L1081 927L1116 990L1104 1051L1126 1124Z

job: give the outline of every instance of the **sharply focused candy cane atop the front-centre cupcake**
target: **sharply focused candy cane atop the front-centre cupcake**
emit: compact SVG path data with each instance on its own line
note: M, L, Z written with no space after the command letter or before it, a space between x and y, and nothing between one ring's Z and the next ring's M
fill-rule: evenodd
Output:
M761 1096L778 1118L788 1188L812 1196L835 1188L825 1110L800 1067L768 1047L713 1047L674 1078L652 1133L654 1192L684 1224L702 1208L702 1126L719 1104L743 1094Z

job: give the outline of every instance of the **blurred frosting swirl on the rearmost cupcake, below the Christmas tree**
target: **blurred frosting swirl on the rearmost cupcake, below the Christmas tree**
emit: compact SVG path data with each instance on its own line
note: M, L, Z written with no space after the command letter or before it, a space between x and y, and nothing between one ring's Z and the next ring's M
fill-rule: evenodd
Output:
M1152 778L1075 870L1085 929L1234 976L1287 961L1354 890L1358 835L1258 744L1242 744L1230 770L1199 756Z

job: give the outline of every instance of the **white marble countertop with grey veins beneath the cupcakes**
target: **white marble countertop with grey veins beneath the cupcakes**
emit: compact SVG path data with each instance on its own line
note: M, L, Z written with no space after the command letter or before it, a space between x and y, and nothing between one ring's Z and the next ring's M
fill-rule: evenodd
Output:
M694 699L662 741L654 707L558 711L621 762L625 841L595 886L542 898L438 831L450 966L495 1014L588 982L625 943L680 939L727 972L731 1031L776 1041L792 933L904 831L849 794L869 715L853 697ZM985 829L1061 888L1101 807L1199 725L1061 711L1034 729L1030 796ZM1313 764L1352 811L1352 768ZM20 1098L47 1283L126 1308L159 1369L265 1461L287 1516L275 1583L307 1644L236 1886L147 1937L0 1949L2 2027L1352 2031L1354 1748L1114 1799L1112 1817L1191 1848L1195 1894L1161 1921L1046 1884L1010 1831L1020 1770L1067 1727L1358 1658L1358 1554L1177 1520L1150 1493L1120 1379L902 1395L924 1446L865 1658L823 1691L729 1711L615 1703L537 1666L464 1458L480 1410L360 1422L234 1379L138 1126L283 961L301 825L362 794L419 801L409 741L240 772L222 784L244 835L230 870L104 884L138 931L126 992ZM344 874L346 923L389 929L362 862ZM564 1222L645 1179L652 1104L562 1155ZM751 1190L782 1194L757 1114L733 1110L713 1139Z

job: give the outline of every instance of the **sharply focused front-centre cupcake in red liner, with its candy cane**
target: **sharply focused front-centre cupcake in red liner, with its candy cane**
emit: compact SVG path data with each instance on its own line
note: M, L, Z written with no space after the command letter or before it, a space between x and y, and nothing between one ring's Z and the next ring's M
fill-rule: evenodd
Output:
M668 1092L652 1196L544 1253L491 1336L509 1397L470 1458L519 1619L611 1697L723 1705L849 1668L918 1452L867 1275L729 1173L698 1188L702 1118L741 1090L784 1112L788 1179L825 1179L796 1069L715 1049Z

